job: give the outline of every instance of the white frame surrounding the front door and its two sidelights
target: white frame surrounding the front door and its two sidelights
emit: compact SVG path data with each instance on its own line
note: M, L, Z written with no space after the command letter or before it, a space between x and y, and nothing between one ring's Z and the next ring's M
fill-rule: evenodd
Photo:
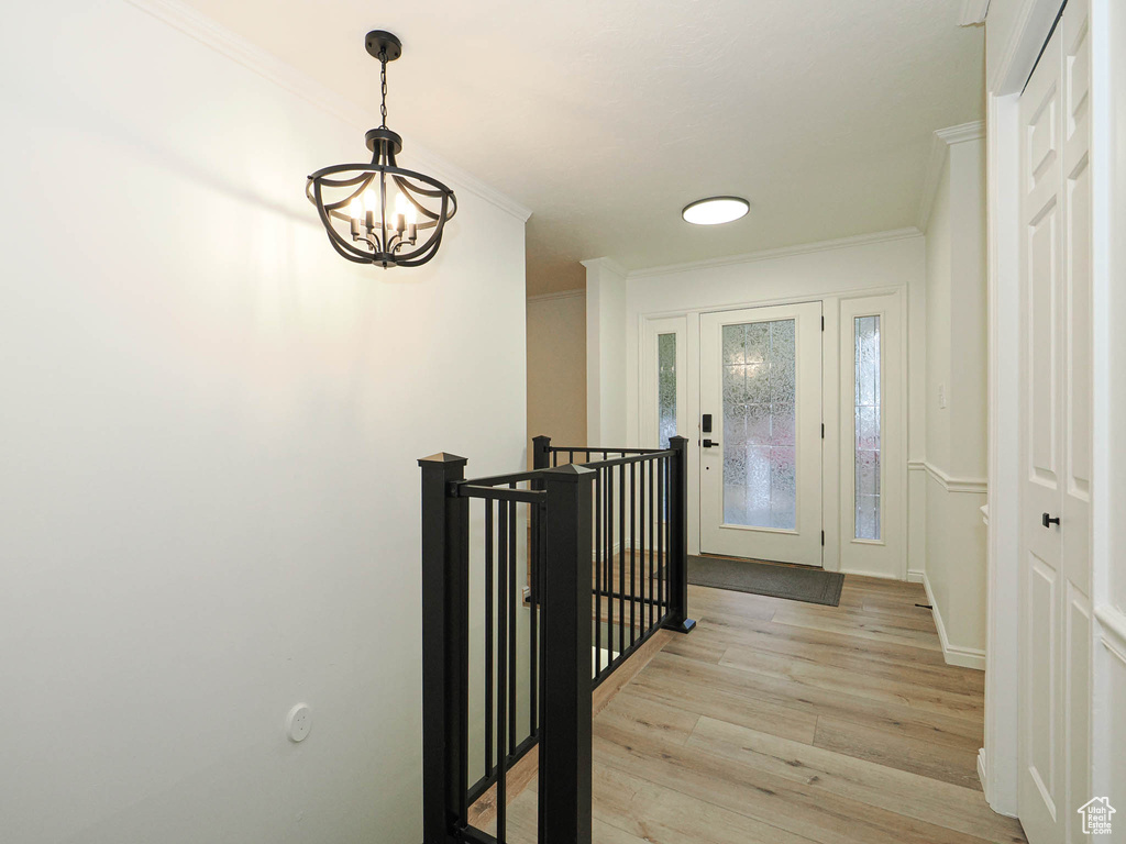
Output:
M644 441L646 436L646 430L654 430L652 427L646 428L644 422L646 408L646 396L652 393L649 390L646 393L645 384L655 377L655 370L652 370L651 365L646 363L653 359L653 356L646 351L646 345L650 339L654 336L654 331L650 327L651 324L658 323L670 318L682 318L685 320L683 330L686 332L686 371L695 372L691 383L685 385L685 419L687 420L686 430L682 436L687 437L695 446L696 451L694 454L694 460L699 454L699 419L700 419L700 390L699 390L699 367L700 367L700 314L704 313L715 313L720 311L740 311L749 307L768 307L771 305L797 305L803 302L821 302L822 309L821 313L825 317L825 331L822 336L822 361L821 361L821 377L822 377L822 414L825 423L825 439L822 443L821 449L821 518L822 527L825 531L825 547L824 554L822 556L822 568L826 572L839 572L841 571L841 557L840 548L842 540L842 524L843 517L841 514L841 474L840 474L840 460L841 460L841 396L840 396L840 304L844 299L857 299L867 298L876 296L888 296L894 295L899 297L899 316L900 324L902 326L903 336L908 338L908 289L906 284L895 285L895 286L878 286L878 287L860 287L851 288L848 290L826 290L823 293L812 293L805 296L783 296L776 298L765 298L765 299L752 299L743 302L724 303L722 305L705 306L698 308L680 308L676 311L660 311L650 312L637 315L637 420L638 420L638 431L643 438L641 445L643 447L655 446L655 442ZM670 323L665 323L670 324ZM909 381L909 368L908 368L908 349L910 347L910 341L905 341L900 344L900 372L901 372L901 384L900 389L903 401L902 406L902 430L905 432L908 430L908 407L910 406L909 395L908 395L908 381ZM679 347L679 339L678 339ZM680 384L678 381L678 394L680 389ZM679 407L678 407L679 411ZM901 490L901 494L904 501L906 501L908 495L908 442L906 437L903 438L902 443L902 465L903 472L901 478L894 481L895 487ZM689 472L688 473L688 553L699 554L700 550L700 487L699 487L699 473ZM908 508L903 508L902 518L899 519L899 529L901 536L903 537L903 547L906 547L908 539ZM851 522L849 522L851 523ZM867 574L873 576L893 576L899 580L908 578L908 560L906 555L904 555L902 571L894 573L892 575L882 574L876 572L854 572L855 574Z

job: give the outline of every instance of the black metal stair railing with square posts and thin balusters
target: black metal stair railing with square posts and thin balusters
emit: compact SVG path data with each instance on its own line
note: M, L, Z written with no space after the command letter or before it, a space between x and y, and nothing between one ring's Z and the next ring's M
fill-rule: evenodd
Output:
M507 842L507 774L536 746L539 844L588 844L593 688L656 630L695 625L687 440L534 442L531 472L419 461L425 844ZM495 835L468 820L489 789Z

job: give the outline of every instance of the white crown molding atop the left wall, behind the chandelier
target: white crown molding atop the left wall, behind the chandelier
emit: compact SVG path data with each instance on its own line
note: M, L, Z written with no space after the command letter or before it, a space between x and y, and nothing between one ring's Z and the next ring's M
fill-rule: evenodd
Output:
M372 125L373 118L366 109L180 0L126 1L360 132ZM521 223L531 216L530 208L422 146L411 144L411 159L419 162L422 169L436 172L443 181L457 185L459 191L484 199Z

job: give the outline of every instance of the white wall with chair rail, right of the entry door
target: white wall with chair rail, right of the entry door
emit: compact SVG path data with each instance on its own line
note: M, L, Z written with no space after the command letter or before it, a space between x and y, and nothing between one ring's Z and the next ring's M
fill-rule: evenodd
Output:
M936 133L927 224L923 583L948 662L984 667L985 179L981 126ZM918 465L917 465L918 467Z

